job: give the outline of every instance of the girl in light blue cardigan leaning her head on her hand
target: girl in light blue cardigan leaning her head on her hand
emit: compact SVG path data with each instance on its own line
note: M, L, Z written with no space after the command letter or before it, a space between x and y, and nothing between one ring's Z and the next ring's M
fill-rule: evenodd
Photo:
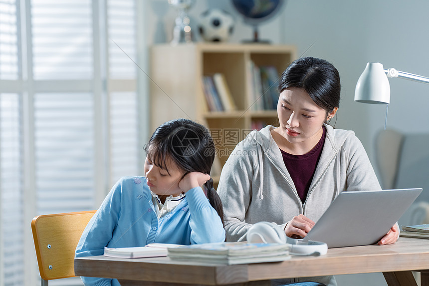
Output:
M225 240L222 203L208 175L214 143L207 128L187 119L166 122L155 130L145 151L145 177L123 177L113 186L86 226L75 257L103 255L105 246ZM87 286L119 286L111 279L82 281Z

